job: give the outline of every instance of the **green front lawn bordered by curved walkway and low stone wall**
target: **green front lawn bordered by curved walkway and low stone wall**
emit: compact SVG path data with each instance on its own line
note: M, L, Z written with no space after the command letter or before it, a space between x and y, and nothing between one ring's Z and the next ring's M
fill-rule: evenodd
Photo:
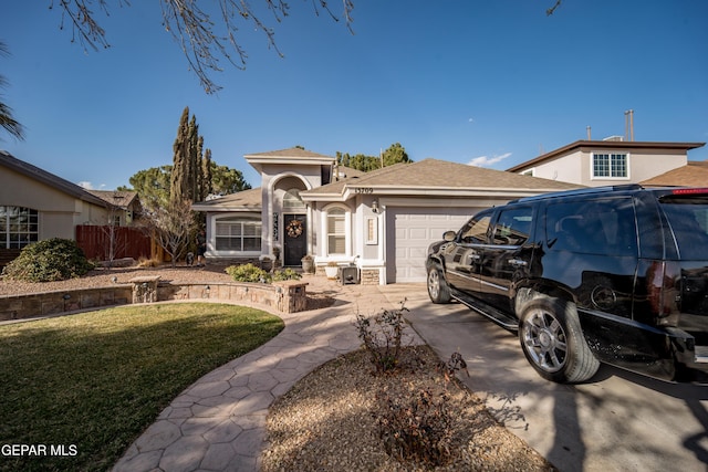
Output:
M110 470L180 391L282 328L201 303L0 326L0 470ZM10 457L8 444L45 444L46 457ZM50 457L50 444L75 455Z

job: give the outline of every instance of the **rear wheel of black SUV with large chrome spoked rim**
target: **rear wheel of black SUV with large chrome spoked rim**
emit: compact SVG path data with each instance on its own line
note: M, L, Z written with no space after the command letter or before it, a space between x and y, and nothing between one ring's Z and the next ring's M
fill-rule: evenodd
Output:
M600 368L573 303L539 295L521 313L519 340L529 363L548 380L583 382Z

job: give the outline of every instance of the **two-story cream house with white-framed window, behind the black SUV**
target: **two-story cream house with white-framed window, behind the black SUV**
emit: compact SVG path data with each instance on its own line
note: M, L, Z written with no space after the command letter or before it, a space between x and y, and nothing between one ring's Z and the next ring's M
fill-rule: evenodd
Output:
M705 143L579 140L519 164L509 172L602 187L638 183L686 166L688 151Z

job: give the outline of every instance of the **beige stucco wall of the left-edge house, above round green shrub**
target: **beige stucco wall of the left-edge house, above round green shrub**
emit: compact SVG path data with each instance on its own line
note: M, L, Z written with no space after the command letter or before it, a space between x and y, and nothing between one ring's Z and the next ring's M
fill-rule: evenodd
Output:
M8 168L0 168L0 206L38 210L39 239L74 239L76 224L105 224L105 208L82 201Z

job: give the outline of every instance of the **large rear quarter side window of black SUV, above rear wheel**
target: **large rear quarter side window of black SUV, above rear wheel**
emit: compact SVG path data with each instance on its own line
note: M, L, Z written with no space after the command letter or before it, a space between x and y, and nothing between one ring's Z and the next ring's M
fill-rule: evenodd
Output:
M636 255L634 203L631 197L550 203L546 244L553 251Z

